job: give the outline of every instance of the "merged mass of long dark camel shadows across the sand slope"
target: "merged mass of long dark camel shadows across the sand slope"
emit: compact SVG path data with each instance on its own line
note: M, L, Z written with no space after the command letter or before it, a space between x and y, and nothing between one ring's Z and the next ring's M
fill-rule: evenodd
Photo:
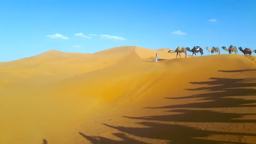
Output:
M145 120L140 124L146 127L123 127L112 126L104 124L108 127L118 130L129 135L134 135L140 138L167 140L170 144L248 144L244 140L237 142L220 141L220 140L208 140L203 139L211 135L235 135L235 136L256 136L254 133L244 132L217 132L210 130L197 129L194 127L188 127L179 124L165 124L163 122L222 122L222 123L256 123L255 119L236 119L242 118L246 115L256 115L255 113L238 114L238 113L224 113L212 110L189 110L185 108L235 108L235 107L256 107L256 90L250 87L255 87L256 78L246 79L229 79L229 78L210 78L212 81L206 82L191 82L191 84L204 84L205 87L196 89L187 89L189 91L204 90L210 93L197 94L179 98L166 98L166 99L188 99L188 98L202 98L201 100L207 100L206 102L188 103L181 105L170 105L164 107L155 108L182 108L169 110L169 112L181 112L182 114L164 115L164 116L144 116L144 117L131 117L124 116L130 119ZM227 97L232 98L227 98ZM236 98L238 97L239 98ZM242 96L250 97L252 100L242 99ZM211 101L209 101L211 100ZM246 105L245 105L246 104ZM149 122L148 122L149 121ZM150 122L152 121L152 122ZM158 121L158 122L153 122ZM83 134L84 135L84 134ZM124 136L124 134L123 134ZM94 144L98 144L104 141L106 138L97 137L95 141L93 137L85 136ZM114 143L127 143L131 138L123 137L124 141L115 141ZM94 141L93 141L94 140ZM111 141L111 140L110 140ZM112 143L111 142L111 143ZM131 140L130 143L143 143L141 141Z

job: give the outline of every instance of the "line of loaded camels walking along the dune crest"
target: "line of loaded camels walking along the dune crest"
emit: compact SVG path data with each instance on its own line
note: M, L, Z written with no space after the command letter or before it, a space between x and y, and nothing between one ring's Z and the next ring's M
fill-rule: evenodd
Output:
M226 46L222 46L221 47L223 50L225 50L225 51L227 51L227 52L229 52L229 54L231 54L232 52L235 52L235 54L237 54L237 48L236 48L236 46L233 46L233 45L230 45L229 47L228 47L228 49L226 48ZM212 47L211 49L207 46L207 47L205 47L204 49L206 49L207 51L209 51L209 52L211 52L213 55L217 52L218 54L220 54L220 48L219 47ZM249 54L249 55L252 55L252 52L255 52L256 53L256 50L251 50L250 48L245 48L244 50L242 49L242 47L238 47L238 49L241 51L241 52L243 52L244 53L244 55L247 55L247 54ZM178 48L177 49L175 49L175 50L169 50L168 51L168 53L177 53L177 55L176 55L176 58L177 58L177 56L178 56L178 54L179 54L179 56L180 56L180 53L185 53L185 58L187 57L187 51L189 51L189 52L193 52L192 53L192 56L195 54L195 56L196 56L196 53L198 53L198 52L200 52L201 53L201 56L204 56L204 53L203 53L203 49L200 47L200 46L194 46L192 49L190 49L189 47L186 47L186 48L184 48L183 46L178 46ZM181 56L180 56L180 58L181 58Z

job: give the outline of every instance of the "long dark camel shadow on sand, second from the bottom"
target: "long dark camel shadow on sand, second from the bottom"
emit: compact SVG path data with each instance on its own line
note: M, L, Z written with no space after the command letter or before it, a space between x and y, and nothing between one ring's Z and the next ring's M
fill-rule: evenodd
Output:
M124 132L130 135L135 135L140 138L167 140L170 144L248 144L231 141L219 141L219 140L207 140L200 139L210 135L247 135L256 136L252 133L239 133L239 132L216 132L209 130L201 130L193 127L188 127L179 124L163 124L159 122L139 122L146 127L123 127L123 126L111 126L104 124L108 127L116 129L120 132ZM132 141L131 141L132 142ZM133 142L132 142L133 143ZM96 144L96 143L95 143Z

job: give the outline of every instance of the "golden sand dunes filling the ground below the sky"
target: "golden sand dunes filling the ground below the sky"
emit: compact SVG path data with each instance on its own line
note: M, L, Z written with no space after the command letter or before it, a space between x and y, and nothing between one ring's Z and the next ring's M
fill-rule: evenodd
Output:
M255 144L256 56L168 50L0 63L0 144Z

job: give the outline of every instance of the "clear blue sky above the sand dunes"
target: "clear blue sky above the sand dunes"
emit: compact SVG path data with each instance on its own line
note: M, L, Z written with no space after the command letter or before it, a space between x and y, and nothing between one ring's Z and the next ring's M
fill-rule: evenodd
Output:
M254 0L0 0L0 62L51 49L93 53L122 45L256 49L255 5ZM186 35L172 34L178 30Z

